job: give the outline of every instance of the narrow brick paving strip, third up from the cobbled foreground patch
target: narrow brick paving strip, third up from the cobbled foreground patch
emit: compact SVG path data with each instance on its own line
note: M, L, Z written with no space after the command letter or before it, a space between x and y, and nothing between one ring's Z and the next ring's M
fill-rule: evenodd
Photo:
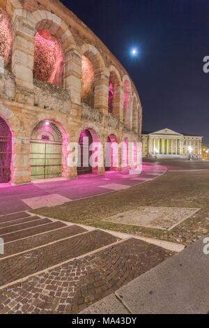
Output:
M65 226L65 223L59 221L47 223L45 225L38 225L37 227L29 228L26 230L13 232L10 234L4 234L3 241L4 243L8 243L10 241L15 241L29 236L33 236L34 234L41 234L42 232L63 228Z

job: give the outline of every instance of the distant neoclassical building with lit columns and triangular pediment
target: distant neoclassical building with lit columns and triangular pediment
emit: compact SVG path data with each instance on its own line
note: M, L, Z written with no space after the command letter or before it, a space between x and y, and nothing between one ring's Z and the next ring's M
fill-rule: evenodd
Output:
M143 156L201 158L203 137L178 133L169 128L156 132L142 132Z

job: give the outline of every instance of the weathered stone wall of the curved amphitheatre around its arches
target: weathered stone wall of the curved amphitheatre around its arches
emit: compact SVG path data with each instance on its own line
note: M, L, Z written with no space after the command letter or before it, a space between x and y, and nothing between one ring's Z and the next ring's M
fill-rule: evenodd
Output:
M100 142L115 135L118 143L128 139L139 142L142 126L142 105L134 83L102 41L58 0L0 0L2 13L8 16L7 29L12 26L12 53L6 67L0 70L0 118L12 133L11 182L31 181L31 135L42 121L56 125L63 136L62 176L76 178L76 167L68 167L68 144L78 142L86 128ZM0 15L0 24L1 24ZM3 16L4 17L4 16ZM48 31L61 45L63 59L55 63L49 57L54 80L37 80L34 67L37 33ZM8 31L6 30L6 33ZM42 32L38 36L42 36ZM7 43L0 34L1 45ZM10 40L9 39L9 40ZM39 43L38 43L39 44ZM1 50L1 59L5 50ZM52 52L53 53L53 52ZM47 54L46 54L47 55ZM52 55L50 55L52 57ZM84 95L84 57L90 62L91 93ZM63 61L63 62L61 62ZM36 61L37 62L37 61ZM54 65L54 66L53 66ZM37 65L36 65L37 66ZM38 66L37 66L38 67ZM60 73L61 85L55 80ZM35 74L36 73L36 74ZM36 79L35 79L36 75ZM109 105L109 85L114 98ZM91 101L87 101L87 98ZM111 112L110 112L111 107ZM1 165L0 165L1 166ZM104 167L97 172L104 173Z

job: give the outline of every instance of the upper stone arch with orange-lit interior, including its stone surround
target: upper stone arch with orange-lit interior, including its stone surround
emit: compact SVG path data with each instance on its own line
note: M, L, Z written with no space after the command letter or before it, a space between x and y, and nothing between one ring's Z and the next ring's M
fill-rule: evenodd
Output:
M82 54L82 103L100 110L104 61L98 49L90 44L80 48Z

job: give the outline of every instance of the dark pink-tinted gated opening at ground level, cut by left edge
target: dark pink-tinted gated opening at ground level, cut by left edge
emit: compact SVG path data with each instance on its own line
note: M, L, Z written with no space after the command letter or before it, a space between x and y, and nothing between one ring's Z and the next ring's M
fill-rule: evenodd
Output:
M10 181L12 159L12 133L0 117L0 183Z

